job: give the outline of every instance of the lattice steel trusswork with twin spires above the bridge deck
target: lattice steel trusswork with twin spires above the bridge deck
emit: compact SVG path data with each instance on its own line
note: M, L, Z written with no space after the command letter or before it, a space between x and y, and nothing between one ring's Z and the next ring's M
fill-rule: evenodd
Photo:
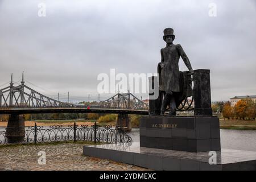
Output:
M24 84L24 76L22 74L21 84L14 86L13 74L11 75L10 86L0 89L0 107L4 108L51 108L51 107L85 107L84 105L76 105L68 102L61 102L44 96L36 90ZM139 100L131 93L118 93L113 97L99 102L97 105L91 105L92 108L105 109L134 109L134 110L148 110L148 105Z

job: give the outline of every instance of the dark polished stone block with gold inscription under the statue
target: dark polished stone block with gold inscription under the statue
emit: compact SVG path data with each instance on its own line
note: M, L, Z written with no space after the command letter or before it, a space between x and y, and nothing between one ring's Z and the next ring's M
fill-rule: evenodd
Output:
M221 150L217 117L143 117L139 135L141 147L189 152Z

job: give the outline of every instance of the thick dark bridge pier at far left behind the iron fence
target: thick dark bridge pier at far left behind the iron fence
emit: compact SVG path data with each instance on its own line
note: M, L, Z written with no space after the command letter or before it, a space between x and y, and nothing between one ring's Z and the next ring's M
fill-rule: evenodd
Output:
M7 143L23 142L25 137L25 123L23 114L10 114L6 128Z

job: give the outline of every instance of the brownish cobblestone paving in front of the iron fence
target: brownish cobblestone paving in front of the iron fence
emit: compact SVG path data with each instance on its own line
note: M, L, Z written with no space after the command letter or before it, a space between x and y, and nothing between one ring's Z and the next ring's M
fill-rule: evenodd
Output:
M148 170L82 155L85 143L49 143L0 146L0 170ZM46 152L46 164L39 164L40 151ZM40 153L39 153L40 154Z

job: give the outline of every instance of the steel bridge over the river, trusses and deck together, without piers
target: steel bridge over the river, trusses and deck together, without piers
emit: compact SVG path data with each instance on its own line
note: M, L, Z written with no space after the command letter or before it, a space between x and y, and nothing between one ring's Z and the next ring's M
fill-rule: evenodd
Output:
M14 86L13 74L10 85L0 89L0 114L27 113L116 113L148 114L148 104L132 93L118 93L108 100L87 109L85 105L61 102L44 96L24 84L24 75L20 85Z

